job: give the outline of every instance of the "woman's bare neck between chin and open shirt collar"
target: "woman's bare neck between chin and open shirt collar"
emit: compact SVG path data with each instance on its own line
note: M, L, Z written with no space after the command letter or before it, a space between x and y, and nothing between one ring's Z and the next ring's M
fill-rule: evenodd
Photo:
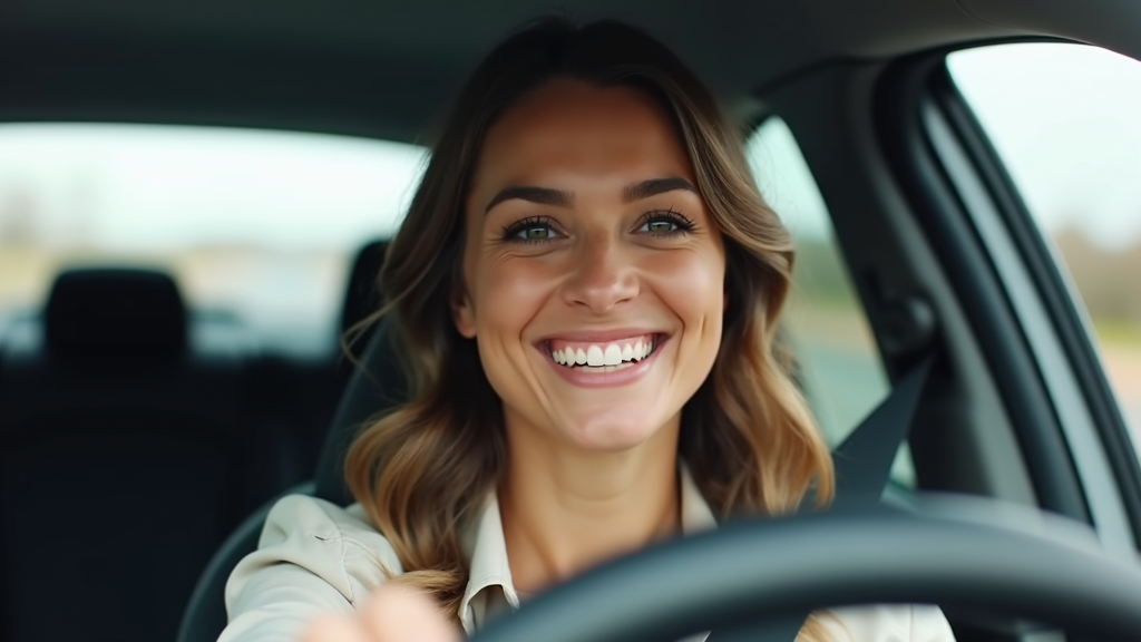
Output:
M542 591L680 529L679 420L621 452L575 450L507 424L500 511L519 591Z

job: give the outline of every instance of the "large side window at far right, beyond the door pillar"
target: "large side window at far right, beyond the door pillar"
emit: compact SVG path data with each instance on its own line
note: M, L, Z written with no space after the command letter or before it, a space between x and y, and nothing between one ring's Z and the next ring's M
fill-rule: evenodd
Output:
M1141 444L1141 63L1037 42L957 51L947 65L1067 267Z

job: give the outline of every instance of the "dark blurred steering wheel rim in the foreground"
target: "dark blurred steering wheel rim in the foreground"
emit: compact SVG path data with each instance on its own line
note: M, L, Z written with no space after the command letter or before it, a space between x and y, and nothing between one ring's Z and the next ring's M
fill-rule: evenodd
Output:
M471 642L674 642L713 629L712 642L874 603L953 604L1141 640L1141 562L1059 530L885 508L741 522L586 572Z

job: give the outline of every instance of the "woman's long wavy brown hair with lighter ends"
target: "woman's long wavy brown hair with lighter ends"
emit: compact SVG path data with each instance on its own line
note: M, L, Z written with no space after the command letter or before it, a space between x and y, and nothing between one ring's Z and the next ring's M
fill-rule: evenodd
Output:
M779 514L833 491L832 459L790 379L775 334L792 275L788 232L758 193L744 129L661 42L632 26L549 18L496 47L460 93L381 273L411 400L367 426L349 450L348 483L396 549L397 581L459 616L467 581L460 532L504 471L501 402L475 342L459 335L463 207L488 129L553 79L630 87L673 119L726 246L721 350L682 410L679 456L721 516ZM811 620L803 637L820 639Z

